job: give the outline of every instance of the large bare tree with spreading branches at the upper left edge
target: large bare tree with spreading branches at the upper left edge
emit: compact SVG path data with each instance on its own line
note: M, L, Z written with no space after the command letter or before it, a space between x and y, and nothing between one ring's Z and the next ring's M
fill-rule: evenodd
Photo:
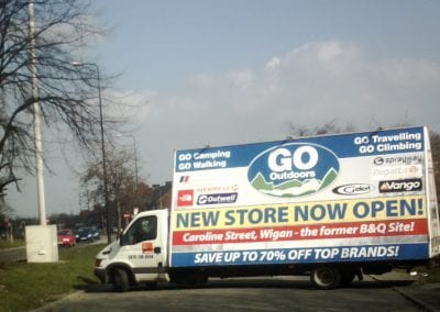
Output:
M40 102L43 124L73 133L89 148L99 137L96 70L75 66L78 51L101 32L90 22L89 5L79 0L0 1L0 193L19 175L34 169L33 105ZM30 43L34 42L34 57ZM32 92L32 63L38 94ZM46 164L50 165L50 164Z

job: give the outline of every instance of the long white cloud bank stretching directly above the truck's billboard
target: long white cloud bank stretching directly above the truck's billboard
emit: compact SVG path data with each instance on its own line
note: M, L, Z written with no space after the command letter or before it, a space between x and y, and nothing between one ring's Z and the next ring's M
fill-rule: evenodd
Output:
M202 74L190 82L185 93L141 96L148 98L142 124L154 181L170 177L174 149L277 140L290 134L289 124L337 119L358 130L410 123L440 131L440 64L376 60L351 43L308 43L260 69Z

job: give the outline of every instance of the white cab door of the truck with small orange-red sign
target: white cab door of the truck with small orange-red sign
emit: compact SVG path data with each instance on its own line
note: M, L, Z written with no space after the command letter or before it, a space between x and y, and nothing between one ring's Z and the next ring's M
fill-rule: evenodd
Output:
M163 276L163 237L157 224L157 215L141 216L121 237L121 257L132 267L136 281L156 281Z

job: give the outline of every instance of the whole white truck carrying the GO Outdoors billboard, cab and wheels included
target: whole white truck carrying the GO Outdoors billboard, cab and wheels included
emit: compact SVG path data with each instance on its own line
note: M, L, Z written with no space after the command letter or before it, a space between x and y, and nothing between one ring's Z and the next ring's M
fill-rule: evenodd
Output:
M309 275L330 289L440 254L424 126L177 151L170 205L98 254L102 282Z

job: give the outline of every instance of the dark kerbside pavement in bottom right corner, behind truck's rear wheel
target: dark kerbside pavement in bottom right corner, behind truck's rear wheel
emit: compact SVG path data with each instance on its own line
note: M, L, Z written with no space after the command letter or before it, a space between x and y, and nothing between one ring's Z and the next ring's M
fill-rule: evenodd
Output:
M392 285L395 291L425 311L440 312L440 282L430 282L425 274L410 276L406 271L394 270L380 276L372 275L371 278Z

